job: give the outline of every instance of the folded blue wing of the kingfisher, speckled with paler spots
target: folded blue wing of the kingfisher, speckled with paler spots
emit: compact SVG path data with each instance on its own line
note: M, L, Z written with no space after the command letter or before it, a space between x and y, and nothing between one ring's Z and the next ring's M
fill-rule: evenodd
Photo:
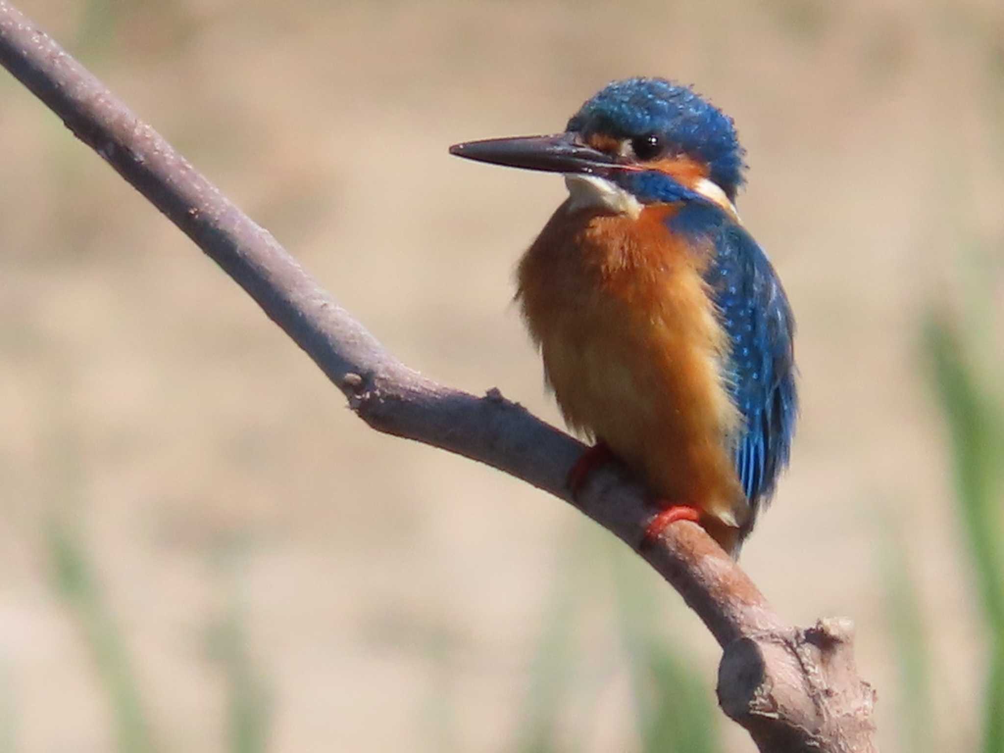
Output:
M674 230L710 236L715 244L705 281L731 340L729 389L745 420L735 447L736 473L752 512L740 532L745 537L791 450L798 412L794 318L767 255L742 226L717 208L695 207L677 217Z

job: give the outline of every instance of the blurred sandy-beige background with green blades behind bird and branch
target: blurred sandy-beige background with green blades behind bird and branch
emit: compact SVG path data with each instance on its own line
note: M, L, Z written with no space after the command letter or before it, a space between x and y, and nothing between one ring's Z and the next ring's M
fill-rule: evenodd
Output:
M799 322L743 565L854 619L886 753L1004 749L997 0L19 6L406 362L554 423L510 300L563 186L446 149L696 84ZM0 753L753 750L623 546L364 429L6 73L0 145Z

